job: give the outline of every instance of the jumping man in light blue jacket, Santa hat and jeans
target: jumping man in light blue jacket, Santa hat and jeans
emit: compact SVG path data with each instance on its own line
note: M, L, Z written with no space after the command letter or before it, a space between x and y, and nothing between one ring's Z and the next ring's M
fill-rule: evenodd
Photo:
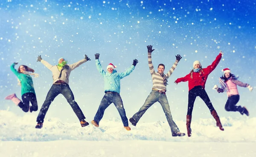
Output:
M102 98L102 101L100 102L99 109L97 110L96 115L94 116L94 119L92 120L92 124L96 127L99 127L99 122L103 117L104 111L108 106L113 102L113 104L116 106L116 109L118 110L122 123L124 125L124 128L127 131L130 131L131 128L128 126L128 119L125 114L125 108L123 106L122 98L120 96L120 80L124 78L125 76L130 75L130 73L134 70L136 64L138 63L137 59L134 59L133 64L131 67L129 67L125 72L123 73L117 73L115 70L115 66L113 64L108 64L107 71L105 72L102 69L102 66L99 62L99 53L95 54L95 60L96 60L96 67L99 73L102 74L104 78L104 90L105 95Z

